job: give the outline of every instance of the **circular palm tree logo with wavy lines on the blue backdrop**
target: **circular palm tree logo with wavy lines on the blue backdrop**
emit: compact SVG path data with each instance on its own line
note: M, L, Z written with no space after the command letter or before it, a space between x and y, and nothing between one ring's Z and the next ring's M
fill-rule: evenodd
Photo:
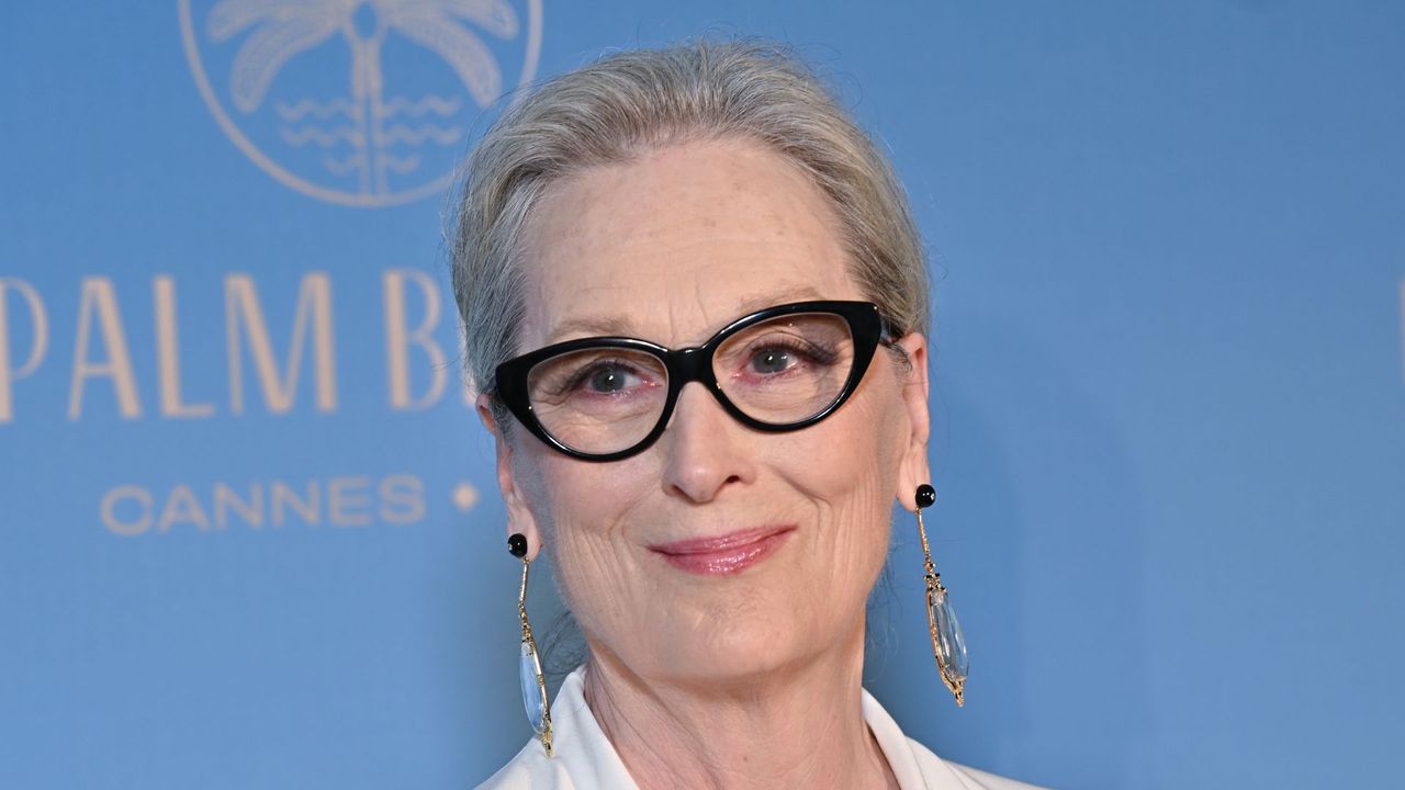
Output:
M469 124L532 79L541 42L541 0L517 0L523 13L511 0L178 3L191 72L235 145L346 205L443 193Z

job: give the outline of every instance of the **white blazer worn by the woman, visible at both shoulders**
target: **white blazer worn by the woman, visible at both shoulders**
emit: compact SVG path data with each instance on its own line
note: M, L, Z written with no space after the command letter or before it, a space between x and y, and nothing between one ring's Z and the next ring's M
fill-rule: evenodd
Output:
M582 673L583 668L577 668L568 675L551 704L555 756L548 758L541 741L532 738L478 790L638 790L586 704ZM943 760L903 735L898 723L867 690L863 693L863 710L864 721L902 790L1040 790Z

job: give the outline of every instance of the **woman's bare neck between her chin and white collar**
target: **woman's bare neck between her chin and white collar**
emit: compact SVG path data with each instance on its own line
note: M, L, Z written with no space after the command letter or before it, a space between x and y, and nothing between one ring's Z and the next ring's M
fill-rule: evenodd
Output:
M764 678L642 678L592 645L586 701L641 790L896 789L863 717L863 626L851 645Z

